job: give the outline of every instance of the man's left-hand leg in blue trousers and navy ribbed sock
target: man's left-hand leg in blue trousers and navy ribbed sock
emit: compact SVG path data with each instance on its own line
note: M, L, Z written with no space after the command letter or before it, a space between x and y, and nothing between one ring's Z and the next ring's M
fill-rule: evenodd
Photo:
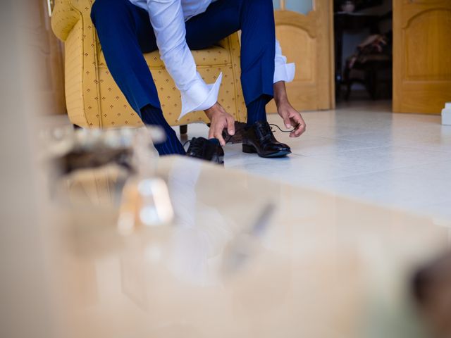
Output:
M158 125L166 132L166 142L155 145L159 154L185 154L163 117L152 73L142 55L157 49L147 11L128 0L97 0L91 17L109 71L130 106L145 124Z

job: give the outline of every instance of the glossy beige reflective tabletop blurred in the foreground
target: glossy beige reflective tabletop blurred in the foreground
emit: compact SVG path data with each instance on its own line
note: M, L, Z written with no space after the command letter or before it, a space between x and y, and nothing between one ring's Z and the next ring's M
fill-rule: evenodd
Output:
M136 212L161 191L145 173L123 208L64 225L75 337L431 338L409 278L449 245L447 227L180 156L150 176L168 182L171 226ZM119 214L131 221L118 229Z

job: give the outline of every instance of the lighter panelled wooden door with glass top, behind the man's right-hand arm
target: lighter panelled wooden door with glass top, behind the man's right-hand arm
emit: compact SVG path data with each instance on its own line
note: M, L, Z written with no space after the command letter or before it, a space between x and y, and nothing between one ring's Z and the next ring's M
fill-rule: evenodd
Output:
M299 0L295 0L299 1ZM287 84L288 97L299 111L335 107L333 82L333 1L311 1L307 14L291 11L280 0L274 15L276 36L288 62L296 63L295 80ZM268 112L275 112L271 102Z

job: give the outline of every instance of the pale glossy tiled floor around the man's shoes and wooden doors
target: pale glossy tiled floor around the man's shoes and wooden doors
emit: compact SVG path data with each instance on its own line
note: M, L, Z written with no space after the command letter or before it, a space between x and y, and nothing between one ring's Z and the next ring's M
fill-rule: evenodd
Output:
M390 101L303 116L307 132L299 139L276 132L291 146L289 158L259 158L229 144L226 168L451 218L451 127L440 125L440 116L391 113ZM278 115L269 120L283 125ZM206 136L207 129L190 125L188 132Z

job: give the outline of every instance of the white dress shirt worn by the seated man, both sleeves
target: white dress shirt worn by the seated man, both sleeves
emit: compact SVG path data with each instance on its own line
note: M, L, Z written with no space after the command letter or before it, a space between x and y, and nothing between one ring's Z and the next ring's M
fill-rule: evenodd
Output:
M211 108L218 101L222 73L214 84L206 84L197 73L196 63L185 40L185 21L204 13L214 1L216 0L130 0L149 13L161 60L182 96L179 119L191 111ZM287 64L286 61L276 40L274 82L290 82L295 77L295 64Z

